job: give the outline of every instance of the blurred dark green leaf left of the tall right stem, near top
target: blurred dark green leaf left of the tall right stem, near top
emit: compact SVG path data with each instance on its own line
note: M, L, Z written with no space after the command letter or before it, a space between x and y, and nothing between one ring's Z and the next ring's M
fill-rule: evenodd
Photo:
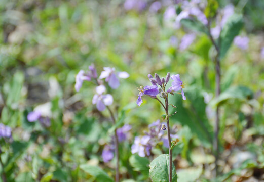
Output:
M198 20L184 18L180 21L180 23L190 30L208 34L207 28Z

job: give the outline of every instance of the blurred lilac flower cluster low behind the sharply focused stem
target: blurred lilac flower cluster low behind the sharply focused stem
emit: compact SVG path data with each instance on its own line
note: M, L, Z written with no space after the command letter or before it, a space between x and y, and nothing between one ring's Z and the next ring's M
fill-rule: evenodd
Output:
M160 120L148 125L148 131L144 132L143 136L136 136L134 144L131 147L132 154L138 153L140 157L149 156L153 147L158 143L163 143L163 146L169 148L168 137L165 135L167 124L161 123ZM171 134L172 138L178 138L178 135Z

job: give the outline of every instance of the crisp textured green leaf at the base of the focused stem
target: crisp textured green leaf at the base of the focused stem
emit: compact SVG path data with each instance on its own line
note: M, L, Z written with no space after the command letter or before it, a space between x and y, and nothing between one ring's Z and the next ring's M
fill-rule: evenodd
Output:
M168 154L162 154L150 163L149 175L153 182L169 181L169 163ZM174 164L172 164L172 181L177 181Z

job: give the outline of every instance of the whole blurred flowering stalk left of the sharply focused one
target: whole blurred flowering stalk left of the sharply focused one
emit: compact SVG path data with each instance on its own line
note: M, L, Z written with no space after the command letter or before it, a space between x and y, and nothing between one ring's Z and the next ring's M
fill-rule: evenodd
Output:
M112 125L114 126L116 124L116 118L114 115L114 112L110 109L110 105L112 105L114 99L110 94L104 94L106 92L106 87L103 84L103 80L105 79L105 82L108 83L108 85L116 89L119 87L120 82L119 78L128 78L129 74L125 71L123 72L116 72L115 68L110 67L104 67L104 70L101 72L100 76L98 77L97 71L95 69L95 66L92 64L89 66L89 71L85 72L84 70L80 70L79 73L76 76L76 84L75 89L77 92L79 92L80 88L82 87L83 81L92 81L97 86L95 88L96 94L93 97L92 103L96 105L96 108L98 111L104 111L107 109L111 116ZM114 150L116 154L116 182L119 181L119 151L118 151L118 145L119 145L119 138L120 138L120 130L115 128L115 134L114 134ZM109 162L114 154L112 153L111 146L105 146L105 149L103 150L102 157L104 162Z

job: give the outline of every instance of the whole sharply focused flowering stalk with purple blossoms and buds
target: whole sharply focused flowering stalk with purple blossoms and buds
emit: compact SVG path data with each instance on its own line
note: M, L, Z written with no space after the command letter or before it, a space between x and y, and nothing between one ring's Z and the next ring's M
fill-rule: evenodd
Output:
M169 117L174 115L169 115L169 105L173 106L172 104L169 104L168 101L168 96L169 94L174 95L174 93L177 94L181 94L182 99L186 100L186 97L184 95L184 92L182 90L182 88L184 88L184 84L183 82L180 80L180 75L176 74L176 75L172 75L170 76L170 73L167 73L166 78L160 78L160 76L155 73L155 78L149 74L148 78L150 80L150 82L152 83L151 86L141 86L138 90L139 90L139 94L138 94L138 99L137 99L137 105L140 106L143 101L142 101L142 96L147 95L155 100L157 100L162 107L164 108L165 112L166 112L166 125L167 125L167 134L168 134L168 142L169 142L169 182L172 181L172 148L173 146L176 144L176 142L171 141L171 133L170 133L170 121L169 121ZM166 86L167 83L169 82L170 78L173 80L171 86L166 90ZM180 93L178 92L180 91ZM157 98L157 95L160 96L161 99L164 100L164 102L162 102L159 98ZM162 125L162 130L166 129L165 125ZM148 141L147 138L142 138L141 141L139 139L138 143L145 143L145 141ZM173 145L172 145L173 144Z

